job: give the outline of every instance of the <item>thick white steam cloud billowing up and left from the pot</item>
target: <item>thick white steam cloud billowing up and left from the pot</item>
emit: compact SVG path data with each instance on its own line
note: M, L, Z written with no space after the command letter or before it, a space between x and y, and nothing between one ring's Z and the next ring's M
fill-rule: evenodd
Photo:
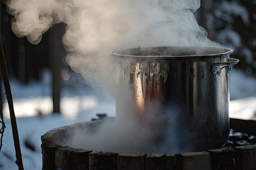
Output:
M108 148L128 147L132 135L150 133L141 129L129 104L130 92L115 84L115 62L111 51L138 46L209 46L206 31L198 25L193 12L200 0L9 0L7 11L15 16L12 30L18 37L27 36L38 44L49 27L59 22L67 24L63 45L70 52L67 63L85 78L85 82L99 93L110 93L115 99L125 100L125 123L115 124L113 140L105 140ZM128 88L127 88L128 89ZM121 97L120 97L121 96ZM124 99L123 96L126 96ZM154 117L154 116L153 116ZM127 120L127 118L129 118ZM150 120L155 120L155 117ZM148 121L151 122L152 121ZM120 128L122 127L122 128ZM136 127L136 128L134 128ZM145 126L147 127L147 126ZM173 126L174 128L174 126ZM118 131L121 129L121 131ZM137 132L141 129L140 132ZM152 132L152 131L151 131ZM102 132L101 141L104 141ZM121 135L124 134L124 135ZM128 135L126 142L120 141ZM142 136L136 145L148 137ZM144 138L143 138L144 137ZM106 138L111 138L106 136ZM115 140L114 140L115 139ZM107 142L109 141L109 142ZM174 142L174 141L169 141ZM94 143L94 142L92 142ZM143 144L142 144L143 145ZM93 147L93 146L92 146ZM97 146L99 147L99 146ZM88 148L90 149L90 148ZM103 148L99 148L102 149Z

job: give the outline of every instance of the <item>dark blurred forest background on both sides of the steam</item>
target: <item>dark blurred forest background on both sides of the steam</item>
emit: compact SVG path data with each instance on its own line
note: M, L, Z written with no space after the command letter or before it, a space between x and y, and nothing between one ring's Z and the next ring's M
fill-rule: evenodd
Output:
M256 77L256 0L201 0L196 11L198 23L203 26L209 39L234 49L231 57L240 60L236 68ZM65 24L51 27L43 34L41 42L33 45L27 38L17 38L11 31L11 18L6 5L1 3L1 39L9 77L23 84L40 80L42 71L52 73L53 112L60 112L60 94L63 86L86 86L83 78L70 70L65 62L62 36ZM76 78L73 78L76 77Z

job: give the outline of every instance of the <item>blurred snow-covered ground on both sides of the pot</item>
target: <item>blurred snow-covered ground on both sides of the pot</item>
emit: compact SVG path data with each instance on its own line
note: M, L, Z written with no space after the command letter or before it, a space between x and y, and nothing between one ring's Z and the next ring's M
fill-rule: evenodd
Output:
M61 112L52 113L51 82L49 72L45 72L42 82L31 82L25 86L11 79L13 105L17 118L23 165L25 170L41 170L41 135L57 127L90 121L96 113L115 116L115 101L98 95L91 89L64 88L61 95ZM256 119L256 78L233 69L230 78L230 117ZM7 103L4 104L6 129L0 152L0 170L17 170L15 149ZM43 115L38 116L41 112ZM29 141L34 151L25 146Z

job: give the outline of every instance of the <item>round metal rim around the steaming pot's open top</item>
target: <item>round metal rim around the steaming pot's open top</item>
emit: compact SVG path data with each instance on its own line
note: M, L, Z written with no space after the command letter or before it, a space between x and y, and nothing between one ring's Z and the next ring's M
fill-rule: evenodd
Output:
M200 50L204 51L206 49L212 50L212 51L220 51L216 53L197 53L195 55L128 55L128 51L138 51L138 50L150 50L150 49L177 49L177 50L194 50L194 52L199 52ZM110 54L115 57L123 57L123 58L136 58L136 59L191 59L191 58L206 58L206 57L220 57L223 55L229 55L233 53L234 50L230 48L225 47L216 47L216 46L156 46L156 47L139 47L139 48L130 48L130 49L123 49L123 50L117 50L113 51ZM175 51L176 53L176 51Z

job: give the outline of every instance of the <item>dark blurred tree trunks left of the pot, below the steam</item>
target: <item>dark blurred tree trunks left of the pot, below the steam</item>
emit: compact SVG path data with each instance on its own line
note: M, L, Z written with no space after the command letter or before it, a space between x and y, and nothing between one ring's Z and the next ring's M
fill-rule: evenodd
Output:
M59 23L43 34L39 44L31 44L26 37L18 38L11 31L11 18L6 5L1 3L1 39L6 57L9 77L28 84L30 80L40 80L42 70L52 71L53 112L60 112L60 93L63 84L61 71L65 66L63 56L67 53L62 44L65 24Z

